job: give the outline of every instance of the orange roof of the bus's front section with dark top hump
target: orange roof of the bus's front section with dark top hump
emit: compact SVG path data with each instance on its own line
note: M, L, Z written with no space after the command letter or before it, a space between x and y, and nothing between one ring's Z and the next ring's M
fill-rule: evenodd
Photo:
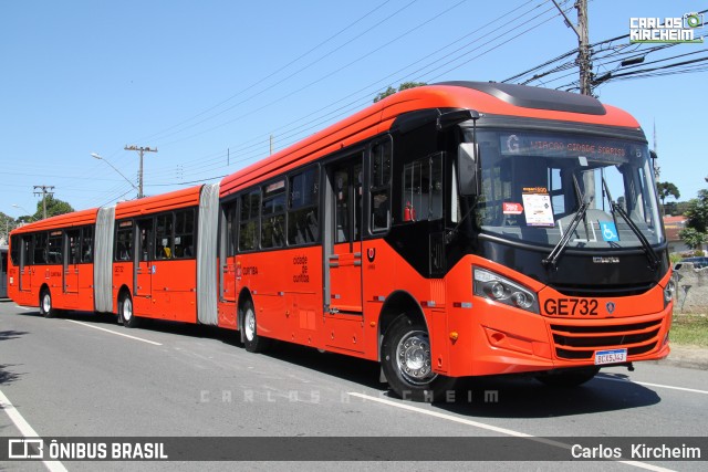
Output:
M391 129L404 113L469 108L482 114L587 123L637 129L628 113L597 99L554 90L490 82L447 82L408 88L221 180L220 196L310 162Z

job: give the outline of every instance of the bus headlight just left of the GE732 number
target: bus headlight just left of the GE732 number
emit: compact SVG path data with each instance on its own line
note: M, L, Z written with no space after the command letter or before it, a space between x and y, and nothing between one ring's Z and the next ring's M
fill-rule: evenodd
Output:
M531 290L486 269L473 268L472 272L475 295L527 312L539 313L539 302Z

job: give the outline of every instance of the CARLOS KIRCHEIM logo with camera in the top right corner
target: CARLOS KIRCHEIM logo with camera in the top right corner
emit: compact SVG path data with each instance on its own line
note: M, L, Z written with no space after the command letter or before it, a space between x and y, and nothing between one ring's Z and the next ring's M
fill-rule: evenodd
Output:
M696 30L704 25L702 13L686 13L675 18L631 18L631 43L702 43Z

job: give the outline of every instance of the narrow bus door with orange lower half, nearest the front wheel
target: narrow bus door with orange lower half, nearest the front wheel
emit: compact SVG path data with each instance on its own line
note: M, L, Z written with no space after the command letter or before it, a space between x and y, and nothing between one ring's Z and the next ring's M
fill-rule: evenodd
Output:
M324 303L330 305L330 315L362 315L362 170L358 155L332 165L326 172L325 228L334 230L323 244L329 272Z

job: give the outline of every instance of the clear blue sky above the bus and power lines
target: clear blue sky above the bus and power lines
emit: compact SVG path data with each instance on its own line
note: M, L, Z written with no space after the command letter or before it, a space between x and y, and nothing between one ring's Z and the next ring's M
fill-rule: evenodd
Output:
M573 1L559 3L576 22ZM591 0L590 42L627 34L631 18L707 6ZM145 195L217 181L362 109L389 85L501 82L576 46L550 0L4 0L0 212L34 213L34 186L53 187L76 210L135 198L139 158L126 146L157 149L144 157ZM690 59L706 48L647 57ZM597 61L594 72L613 66ZM532 85L571 84L577 72L550 80L560 75ZM707 78L595 88L637 118L653 147L656 128L659 180L675 183L681 201L708 188Z

